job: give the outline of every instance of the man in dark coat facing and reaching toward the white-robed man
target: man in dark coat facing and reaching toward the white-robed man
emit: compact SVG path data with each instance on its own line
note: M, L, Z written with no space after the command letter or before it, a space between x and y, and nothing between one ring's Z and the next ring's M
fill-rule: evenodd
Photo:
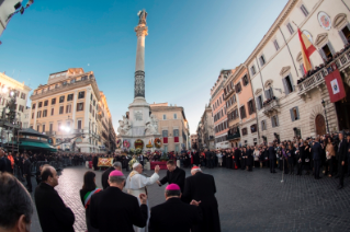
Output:
M181 193L183 193L185 172L180 167L177 167L177 164L172 160L169 160L167 162L167 175L162 179L157 181L157 184L159 186L165 185L167 183L177 184L180 186Z

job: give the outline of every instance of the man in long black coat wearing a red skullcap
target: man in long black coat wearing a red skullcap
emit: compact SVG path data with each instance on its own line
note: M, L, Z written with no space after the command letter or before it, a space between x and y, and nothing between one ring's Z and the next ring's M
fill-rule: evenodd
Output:
M199 201L203 213L203 222L197 227L193 227L191 231L218 232L221 231L221 223L215 198L214 177L202 173L202 170L197 166L192 167L191 174L192 176L187 177L184 183L182 201L187 204L192 200Z

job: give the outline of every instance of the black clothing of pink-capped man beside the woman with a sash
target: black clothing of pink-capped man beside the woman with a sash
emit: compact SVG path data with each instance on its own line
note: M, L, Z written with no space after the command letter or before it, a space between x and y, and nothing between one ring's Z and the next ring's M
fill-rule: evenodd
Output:
M117 187L108 187L92 195L90 222L100 232L134 232L133 224L138 228L146 227L147 206L139 206L136 197Z

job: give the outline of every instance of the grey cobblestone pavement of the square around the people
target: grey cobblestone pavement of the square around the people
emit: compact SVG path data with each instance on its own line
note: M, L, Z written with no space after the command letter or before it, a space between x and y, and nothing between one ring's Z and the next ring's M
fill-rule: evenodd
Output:
M79 232L86 231L84 208L79 197L86 171L83 166L66 167L56 187L75 212L75 229ZM329 177L316 181L306 175L286 175L281 183L281 172L270 174L267 169L255 169L251 173L222 167L203 171L215 177L222 231L350 231L350 178L338 190L338 179ZM190 170L185 172L189 176ZM102 171L95 173L101 187ZM160 171L160 177L165 174L166 171ZM150 207L165 201L163 189L157 184L148 188ZM41 231L36 211L32 231Z

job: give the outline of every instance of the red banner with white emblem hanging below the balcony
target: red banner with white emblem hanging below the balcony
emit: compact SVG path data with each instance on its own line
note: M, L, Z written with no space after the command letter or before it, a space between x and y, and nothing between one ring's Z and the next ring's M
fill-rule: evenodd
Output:
M339 100L342 100L343 97L347 96L346 91L343 89L343 83L340 77L340 72L338 69L335 71L330 72L326 78L325 78L330 102L335 103L338 102Z

